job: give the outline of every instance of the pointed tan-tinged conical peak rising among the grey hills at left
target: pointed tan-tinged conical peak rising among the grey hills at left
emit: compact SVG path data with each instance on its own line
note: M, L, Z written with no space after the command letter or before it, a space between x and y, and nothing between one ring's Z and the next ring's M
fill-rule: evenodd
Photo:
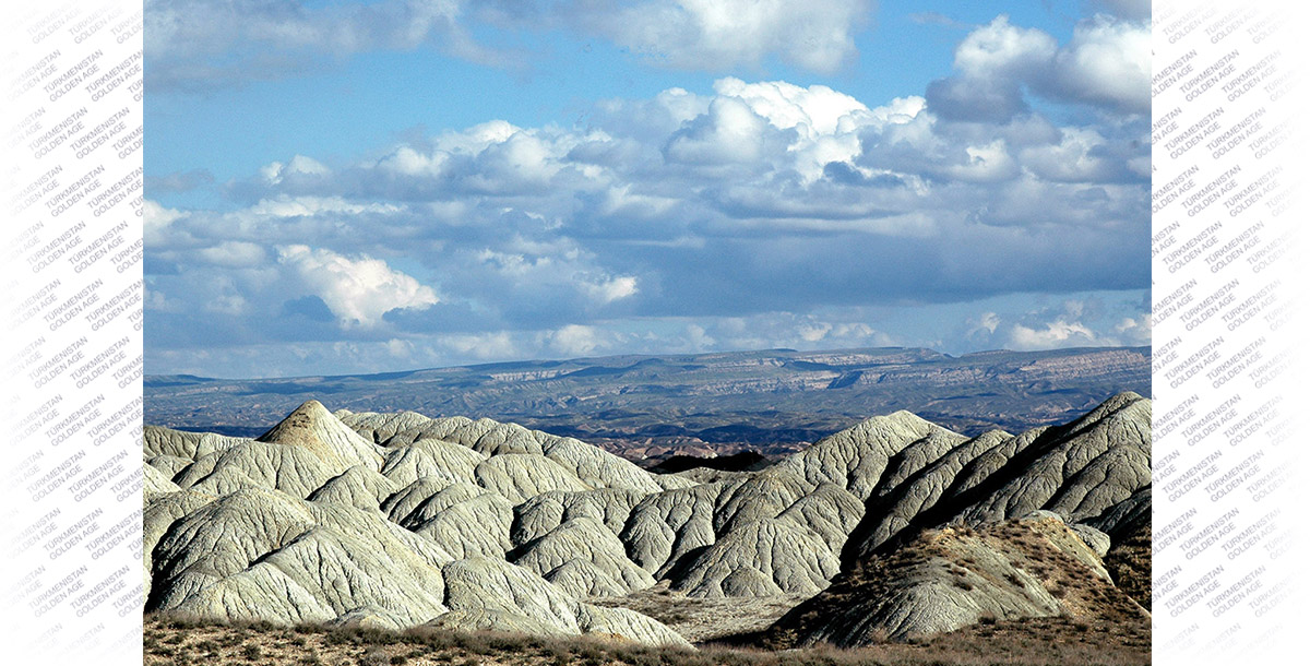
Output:
M377 471L383 464L383 455L376 444L342 423L317 400L297 406L255 441L305 448L337 472L354 465Z

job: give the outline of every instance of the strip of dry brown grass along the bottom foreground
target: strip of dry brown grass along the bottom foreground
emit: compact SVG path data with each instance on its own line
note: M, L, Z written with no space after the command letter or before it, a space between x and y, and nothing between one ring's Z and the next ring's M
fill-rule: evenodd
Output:
M766 652L706 645L651 648L592 637L541 638L432 629L386 632L266 623L220 624L145 617L148 666L992 666L1150 663L1149 629L1140 624L1068 617L996 620L958 632L859 650L829 646Z

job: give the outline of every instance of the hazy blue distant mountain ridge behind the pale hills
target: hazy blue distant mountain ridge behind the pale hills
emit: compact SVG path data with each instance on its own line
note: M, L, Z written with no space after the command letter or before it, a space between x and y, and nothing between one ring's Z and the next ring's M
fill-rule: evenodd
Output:
M296 405L476 414L631 459L799 450L870 413L909 409L973 435L1069 421L1119 391L1150 392L1150 347L732 351L524 361L377 375L147 375L145 421L254 437Z

